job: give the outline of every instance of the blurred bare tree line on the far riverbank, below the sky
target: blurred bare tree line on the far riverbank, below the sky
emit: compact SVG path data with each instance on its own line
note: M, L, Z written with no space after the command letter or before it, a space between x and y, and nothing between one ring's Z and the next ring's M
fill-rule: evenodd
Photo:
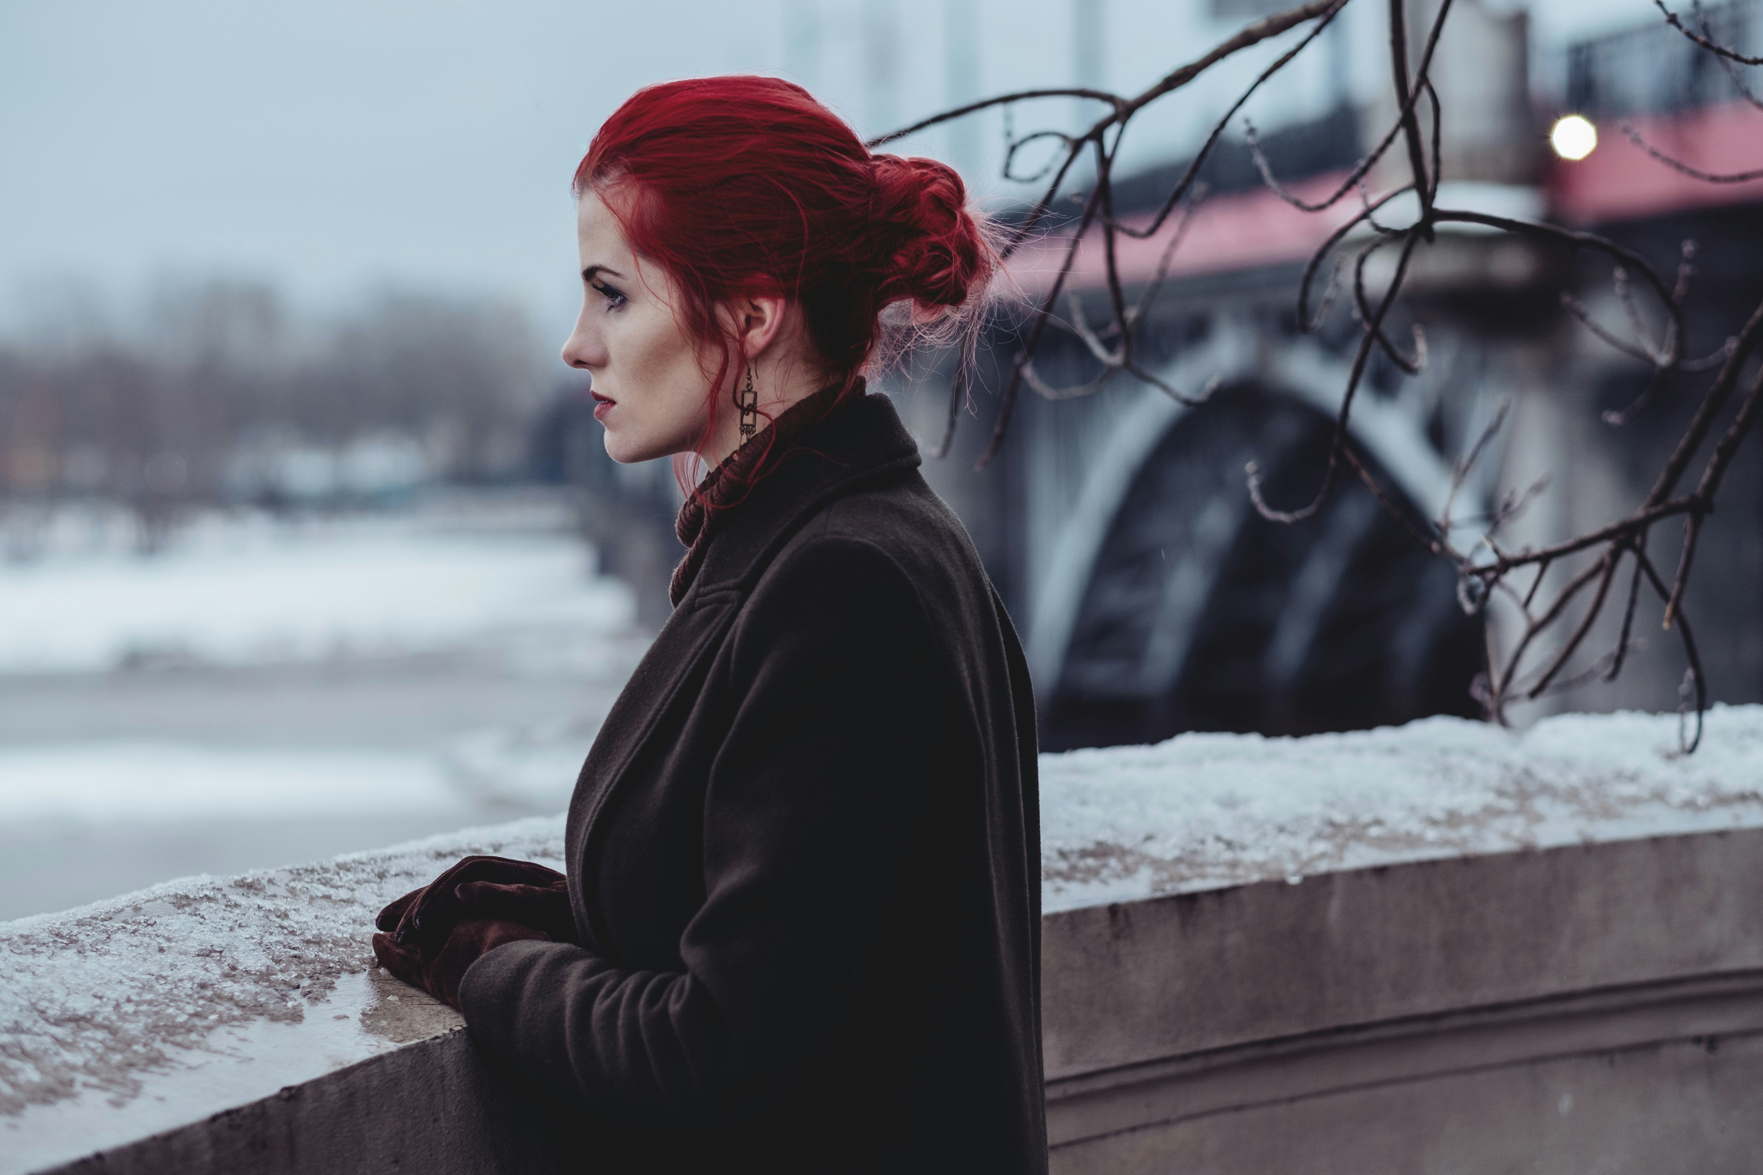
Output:
M0 340L0 509L118 502L155 546L197 506L508 479L545 359L504 301L383 291L317 319L259 282L167 282L125 314L62 291Z

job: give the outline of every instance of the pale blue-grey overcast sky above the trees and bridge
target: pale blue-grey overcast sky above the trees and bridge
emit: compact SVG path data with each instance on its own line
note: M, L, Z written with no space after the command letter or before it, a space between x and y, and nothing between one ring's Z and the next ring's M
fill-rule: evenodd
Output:
M1239 23L1204 0L0 0L0 326L71 284L129 298L220 273L312 308L383 284L508 296L561 340L569 173L636 86L781 72L874 132L963 92L1067 85L1074 4L1105 12L1116 90ZM1354 41L1375 42L1375 5L1359 9ZM1558 39L1648 12L1539 0L1534 21ZM1264 120L1313 100L1324 72L1269 95ZM1179 150L1229 81L1160 113L1139 155ZM971 157L998 127L982 134L911 150Z

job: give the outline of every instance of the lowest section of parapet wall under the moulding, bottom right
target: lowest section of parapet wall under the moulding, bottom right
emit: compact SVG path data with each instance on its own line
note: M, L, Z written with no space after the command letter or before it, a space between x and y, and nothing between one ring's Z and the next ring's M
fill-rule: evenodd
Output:
M1067 1142L1053 1152L1053 1168L1738 1175L1758 1170L1759 1078L1763 1046L1754 1029L1712 1041L1599 1045L1587 1053L1248 1097L1229 1110Z

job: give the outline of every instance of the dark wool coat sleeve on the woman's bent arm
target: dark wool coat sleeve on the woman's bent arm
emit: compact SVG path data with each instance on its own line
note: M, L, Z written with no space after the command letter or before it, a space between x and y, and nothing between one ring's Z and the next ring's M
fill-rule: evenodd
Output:
M513 942L465 972L472 1036L538 1085L675 1129L793 1099L857 1015L878 927L948 754L940 657L880 548L818 537L730 634L728 735L705 791L705 902L682 972Z

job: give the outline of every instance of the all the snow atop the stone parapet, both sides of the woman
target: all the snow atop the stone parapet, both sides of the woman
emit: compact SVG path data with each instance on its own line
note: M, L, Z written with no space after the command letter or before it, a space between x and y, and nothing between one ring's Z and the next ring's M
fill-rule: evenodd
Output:
M1426 858L1763 826L1763 706L1183 735L1040 759L1047 913ZM266 1097L458 1016L376 972L381 905L467 853L562 868L562 817L0 923L0 1175ZM120 1113L127 1110L127 1113Z

